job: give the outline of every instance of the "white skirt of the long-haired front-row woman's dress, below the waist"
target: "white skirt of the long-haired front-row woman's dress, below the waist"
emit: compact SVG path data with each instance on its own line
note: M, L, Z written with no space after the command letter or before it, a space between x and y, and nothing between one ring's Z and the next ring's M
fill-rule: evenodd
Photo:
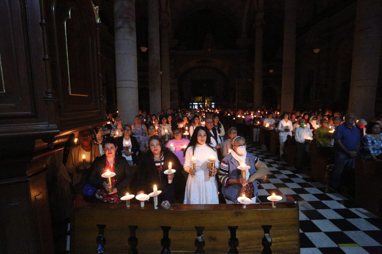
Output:
M217 181L209 175L188 175L184 204L219 204Z

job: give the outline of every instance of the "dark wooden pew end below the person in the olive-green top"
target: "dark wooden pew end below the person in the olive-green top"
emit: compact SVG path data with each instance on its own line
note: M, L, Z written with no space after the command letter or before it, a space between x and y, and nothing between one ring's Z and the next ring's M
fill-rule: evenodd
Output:
M316 140L312 140L309 149L311 153L311 177L318 182L324 182L327 158L320 153L320 148L316 146Z

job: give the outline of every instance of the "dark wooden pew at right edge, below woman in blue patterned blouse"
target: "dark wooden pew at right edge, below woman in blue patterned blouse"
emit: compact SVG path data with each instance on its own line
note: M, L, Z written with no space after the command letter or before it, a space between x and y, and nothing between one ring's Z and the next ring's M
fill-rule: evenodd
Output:
M356 203L368 211L382 213L382 162L355 158Z

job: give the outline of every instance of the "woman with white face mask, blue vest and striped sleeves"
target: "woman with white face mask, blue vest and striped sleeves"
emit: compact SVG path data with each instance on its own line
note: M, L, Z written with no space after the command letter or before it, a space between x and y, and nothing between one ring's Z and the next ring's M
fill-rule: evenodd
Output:
M246 151L245 138L236 136L231 140L231 153L225 156L220 164L219 180L222 183L222 193L227 204L239 203L237 198L246 195L248 198L257 196L257 181L268 172L268 167L257 157ZM241 176L238 166L250 166L248 179Z

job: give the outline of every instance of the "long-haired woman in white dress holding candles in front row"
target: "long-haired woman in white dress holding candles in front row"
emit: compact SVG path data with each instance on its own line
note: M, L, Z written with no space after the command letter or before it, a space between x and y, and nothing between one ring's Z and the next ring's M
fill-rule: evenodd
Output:
M189 173L186 183L184 204L219 204L217 180L215 175L219 167L216 149L210 145L211 135L204 126L196 127L185 152L183 169ZM208 173L208 158L215 157L213 176ZM191 168L191 158L196 163L194 172Z

